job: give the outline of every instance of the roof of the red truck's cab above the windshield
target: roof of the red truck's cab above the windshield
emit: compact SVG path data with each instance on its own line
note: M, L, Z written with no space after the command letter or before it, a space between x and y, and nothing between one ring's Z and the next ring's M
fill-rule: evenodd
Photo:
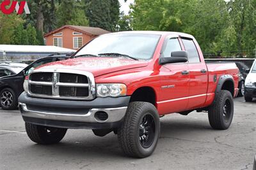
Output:
M194 38L190 34L186 34L183 32L169 32L169 31L120 31L120 32L113 32L109 34L157 34L161 36L180 36L180 37L186 37L186 38ZM108 35L108 34L105 34Z

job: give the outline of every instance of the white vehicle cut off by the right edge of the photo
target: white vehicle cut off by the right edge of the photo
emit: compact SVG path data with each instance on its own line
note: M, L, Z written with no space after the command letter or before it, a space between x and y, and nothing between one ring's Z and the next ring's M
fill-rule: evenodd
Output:
M256 98L256 59L246 77L244 89L245 101L252 101L253 98Z

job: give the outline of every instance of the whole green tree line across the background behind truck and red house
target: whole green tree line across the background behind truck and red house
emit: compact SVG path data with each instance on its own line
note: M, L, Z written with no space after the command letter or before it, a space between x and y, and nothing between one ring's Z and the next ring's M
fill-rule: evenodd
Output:
M44 45L63 25L108 31L153 30L192 34L207 56L254 57L256 0L135 0L129 15L118 0L31 0L31 15L0 13L0 44Z

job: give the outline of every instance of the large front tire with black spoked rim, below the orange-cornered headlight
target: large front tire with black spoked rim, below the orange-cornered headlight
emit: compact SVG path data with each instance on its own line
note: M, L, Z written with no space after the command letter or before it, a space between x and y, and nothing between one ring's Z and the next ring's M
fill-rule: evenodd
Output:
M124 123L117 134L125 155L137 158L151 155L160 134L159 114L156 107L147 102L130 103Z

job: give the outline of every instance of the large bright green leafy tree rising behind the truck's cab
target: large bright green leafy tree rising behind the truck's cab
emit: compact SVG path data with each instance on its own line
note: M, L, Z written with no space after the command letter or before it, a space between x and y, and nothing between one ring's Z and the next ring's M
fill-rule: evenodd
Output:
M226 50L216 42L232 28L224 0L136 0L131 18L134 30L187 32L203 52L215 54Z

